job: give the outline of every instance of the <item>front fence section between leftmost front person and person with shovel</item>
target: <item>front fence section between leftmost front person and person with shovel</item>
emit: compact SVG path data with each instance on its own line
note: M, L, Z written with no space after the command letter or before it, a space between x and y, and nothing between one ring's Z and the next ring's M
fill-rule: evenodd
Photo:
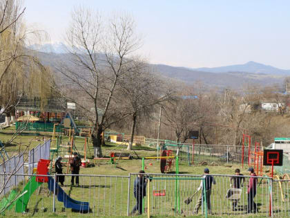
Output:
M143 211L153 216L174 216L183 214L193 215L195 204L200 193L196 194L190 204L184 203L184 199L192 196L203 180L202 176L197 175L176 175L176 174L146 174L151 179L150 187L147 187L146 198L144 198ZM134 212L137 206L137 196L134 193L134 183L137 174L130 174L130 190L128 194L128 212ZM148 186L148 181L147 181ZM149 192L148 192L149 191ZM149 201L148 201L149 198ZM203 204L203 203L202 203ZM204 212L203 205L200 210Z

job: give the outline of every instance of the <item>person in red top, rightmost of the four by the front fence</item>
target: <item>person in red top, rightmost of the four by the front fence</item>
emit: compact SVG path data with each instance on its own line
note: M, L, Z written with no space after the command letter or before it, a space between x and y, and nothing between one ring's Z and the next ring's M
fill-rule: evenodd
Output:
M250 179L249 179L249 185L248 185L248 213L250 212L258 212L257 205L254 201L255 194L257 193L257 182L258 179L255 177L257 176L253 170L253 167L249 167L250 172Z

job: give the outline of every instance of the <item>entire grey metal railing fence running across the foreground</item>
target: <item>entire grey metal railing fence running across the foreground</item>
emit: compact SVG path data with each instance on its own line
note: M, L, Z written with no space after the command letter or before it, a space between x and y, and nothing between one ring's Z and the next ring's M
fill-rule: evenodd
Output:
M0 176L4 176L4 174L0 174ZM50 212L56 212L59 216L70 215L73 203L78 202L79 205L85 206L89 210L84 214L79 210L77 210L77 214L72 213L77 217L82 215L118 217L131 215L137 203L134 194L134 181L137 174L128 176L80 174L78 187L70 185L72 176L74 176L72 174L65 174L63 186L59 186L55 182L57 175L46 175L50 177L48 183L37 183L37 187L33 187L35 185L32 183L32 180L35 179L34 175L17 174L14 176L20 178L26 176L24 183L14 185L13 189L18 193L21 193L22 190L30 191L27 206L25 203L20 205L20 210L27 212L28 215L35 214L35 212L42 216L46 216ZM212 185L211 194L206 195L206 198L204 195L202 196L202 189L196 192L203 180L202 175L146 174L146 176L152 180L147 183L147 193L143 199L144 213L149 210L153 216L191 216L195 215L195 212L204 217L206 212L219 217L247 216L249 209L247 185L250 176L242 176L244 181L241 179L240 189L237 189L232 186L231 177L233 175L214 174L212 176L215 179L215 185ZM251 212L256 212L259 217L289 217L290 180L273 180L262 176L255 178L258 179L256 192L252 194L258 210ZM191 202L187 203L186 200L189 197L192 197ZM202 199L200 208L197 210L201 197L206 199L206 203ZM207 202L210 202L210 207L207 206ZM16 214L14 209L6 211L8 216Z

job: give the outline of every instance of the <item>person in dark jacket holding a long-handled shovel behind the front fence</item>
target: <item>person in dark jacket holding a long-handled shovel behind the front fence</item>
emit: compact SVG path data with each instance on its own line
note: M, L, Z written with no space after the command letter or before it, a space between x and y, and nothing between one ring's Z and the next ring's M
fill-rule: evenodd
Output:
M205 180L205 192L206 192L206 205L207 211L211 214L211 185L215 184L215 179L213 176L209 175L209 168L204 169L204 180ZM197 204L195 205L194 213L198 213L198 209L202 206L202 201L204 201L204 183L203 180L200 182L200 187L197 188L197 191L202 189L202 193L198 198Z

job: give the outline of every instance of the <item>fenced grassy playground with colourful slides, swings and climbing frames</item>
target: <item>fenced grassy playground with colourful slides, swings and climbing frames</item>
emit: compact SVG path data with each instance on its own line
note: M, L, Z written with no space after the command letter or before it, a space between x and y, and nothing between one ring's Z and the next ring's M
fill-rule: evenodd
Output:
M11 129L7 129L0 136L10 136L9 131ZM139 145L134 147L134 151L128 152L126 142L117 142L118 134L107 135L106 138L110 136L116 142L106 141L106 145L102 147L104 158L93 158L93 146L87 137L74 137L73 134L68 133L59 138L59 135L52 131L52 134L46 136L17 138L17 143L8 147L8 155L21 150L20 140L23 144L31 141L33 143L30 146L34 147L43 143L43 140L51 138L49 160L44 161L46 164L44 171L38 169L41 163L39 160L40 162L37 161L36 165L33 165L34 168L37 167L33 170L34 175L24 170L24 174L14 176L24 179L14 185L10 192L1 196L2 214L9 217L22 215L49 217L54 214L59 217L75 217L76 215L78 217L126 217L135 205L133 183L136 173L143 169L152 181L148 185L150 194L145 197L142 217L148 217L148 213L153 217L269 217L270 213L278 217L289 216L290 180L285 180L289 177L284 175L282 178L283 175L279 177L277 174L273 181L269 179L271 167L262 167L257 164L261 163L261 155L258 153L261 152L260 146L257 144L251 148L253 152L250 158L246 155L247 149L240 149L239 154L244 152L244 161L241 163L242 156L240 158L234 154L229 146L218 150L211 145L206 150L202 147L204 145L195 145L192 152L190 150L193 149L192 145L180 147L180 145L174 145L173 142L164 141L163 147L160 146L158 149L152 145ZM176 156L178 147L180 148L179 155ZM244 147L249 148L249 145L245 143ZM79 187L70 184L72 174L68 170L67 163L72 152L78 152L82 160L86 160L79 172ZM226 152L228 154L224 157L220 155ZM55 182L53 165L57 156L64 158L62 162L65 181L62 187ZM259 212L255 215L247 215L245 209L249 163L261 176L258 178L259 184L255 197ZM195 192L202 181L205 167L209 167L210 174L213 174L217 183L213 185L211 194L212 214L207 214L206 207L203 206L199 215L193 215L195 204L201 194L201 191L197 194ZM226 193L231 188L230 177L236 168L240 168L246 181L238 196L240 210L233 211L231 200L226 198ZM37 174L47 176L41 177ZM40 180L37 180L38 177ZM184 203L190 196L193 196L192 202Z

